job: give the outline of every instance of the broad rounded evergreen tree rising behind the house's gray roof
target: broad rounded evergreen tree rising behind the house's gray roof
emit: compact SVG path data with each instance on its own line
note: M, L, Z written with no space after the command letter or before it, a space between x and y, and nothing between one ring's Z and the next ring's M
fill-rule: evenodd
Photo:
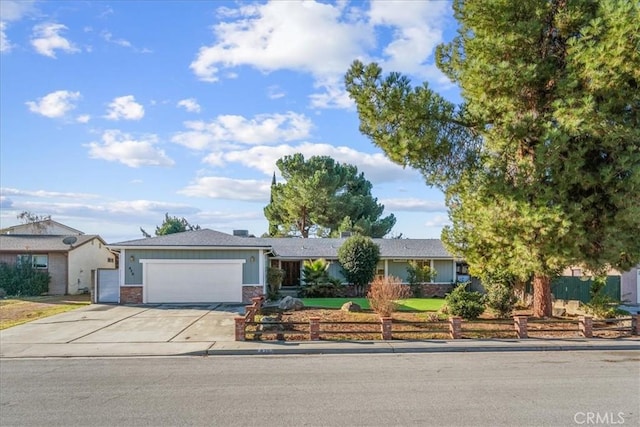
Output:
M305 160L300 153L278 160L286 182L271 185L264 208L271 236L335 236L357 231L383 237L395 225L393 214L381 218L384 206L371 195L372 185L358 168L328 156Z

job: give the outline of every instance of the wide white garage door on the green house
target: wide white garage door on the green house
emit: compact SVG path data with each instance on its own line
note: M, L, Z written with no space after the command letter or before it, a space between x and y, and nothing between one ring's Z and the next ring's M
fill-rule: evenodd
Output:
M145 303L242 301L245 260L142 259Z

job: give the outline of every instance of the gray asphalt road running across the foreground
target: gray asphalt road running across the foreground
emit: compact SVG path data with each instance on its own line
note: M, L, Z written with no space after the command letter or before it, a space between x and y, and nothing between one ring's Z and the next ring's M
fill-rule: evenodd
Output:
M637 426L639 362L630 351L4 359L0 425Z

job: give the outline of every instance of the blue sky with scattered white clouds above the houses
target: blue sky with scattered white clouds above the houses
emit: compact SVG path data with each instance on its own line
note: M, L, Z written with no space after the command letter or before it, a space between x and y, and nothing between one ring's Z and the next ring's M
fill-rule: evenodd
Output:
M397 222L439 238L444 197L360 134L344 75L359 59L427 81L450 2L0 1L0 228L23 211L107 243L165 213L268 229L276 161L356 165Z

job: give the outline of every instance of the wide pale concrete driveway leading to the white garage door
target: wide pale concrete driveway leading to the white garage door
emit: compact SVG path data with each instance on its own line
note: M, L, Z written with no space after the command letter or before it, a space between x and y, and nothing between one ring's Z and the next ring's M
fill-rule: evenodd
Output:
M242 305L93 304L0 331L0 357L199 354L234 340Z

